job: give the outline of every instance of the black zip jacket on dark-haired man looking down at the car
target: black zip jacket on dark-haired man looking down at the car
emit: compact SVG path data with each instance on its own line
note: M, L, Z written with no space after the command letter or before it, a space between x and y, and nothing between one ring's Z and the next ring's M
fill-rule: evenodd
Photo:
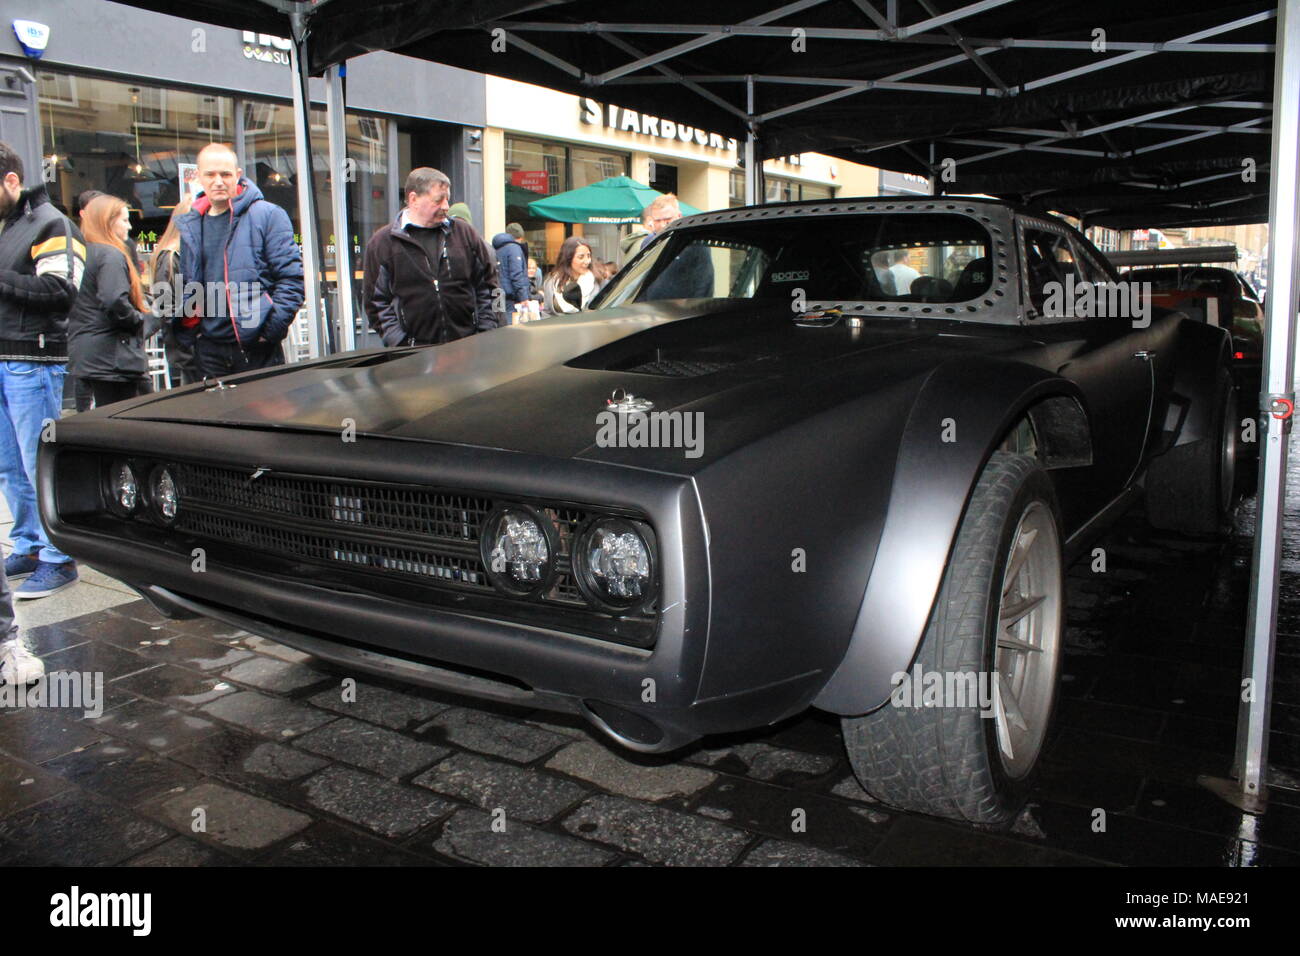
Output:
M463 219L446 222L437 263L402 213L365 245L365 315L385 345L439 345L497 328L497 258Z

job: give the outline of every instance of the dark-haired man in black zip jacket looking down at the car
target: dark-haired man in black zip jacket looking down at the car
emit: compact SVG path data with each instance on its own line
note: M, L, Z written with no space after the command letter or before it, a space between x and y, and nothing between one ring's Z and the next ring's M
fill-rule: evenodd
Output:
M439 345L500 324L497 258L447 216L450 193L437 169L412 169L406 208L365 246L365 313L385 345Z

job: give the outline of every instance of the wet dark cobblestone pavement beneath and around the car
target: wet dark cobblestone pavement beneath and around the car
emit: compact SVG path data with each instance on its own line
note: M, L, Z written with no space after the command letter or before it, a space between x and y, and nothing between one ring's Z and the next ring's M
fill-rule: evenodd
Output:
M1251 523L1247 502L1231 541L1192 541L1135 512L1100 542L1105 572L1071 570L1063 698L1010 832L874 804L824 715L646 758L576 718L363 678L136 601L26 631L51 670L103 671L107 701L98 718L0 710L0 864L1300 864L1300 792L1274 788L1253 818L1196 783L1231 761ZM1286 557L1271 758L1295 787Z

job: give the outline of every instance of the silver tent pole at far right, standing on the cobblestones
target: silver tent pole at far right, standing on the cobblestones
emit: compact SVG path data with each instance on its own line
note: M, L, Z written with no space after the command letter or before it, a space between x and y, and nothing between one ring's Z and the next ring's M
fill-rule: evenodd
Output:
M1278 4L1271 160L1268 341L1264 349L1264 394L1260 395L1268 431L1260 449L1260 503L1245 631L1243 701L1238 715L1236 754L1232 760L1236 788L1223 792L1225 782L1205 780L1206 786L1230 803L1253 813L1261 812L1268 799L1269 705L1273 697L1287 441L1291 434L1291 418L1284 410L1288 408L1287 403L1295 401L1296 242L1300 235L1300 0L1282 0Z

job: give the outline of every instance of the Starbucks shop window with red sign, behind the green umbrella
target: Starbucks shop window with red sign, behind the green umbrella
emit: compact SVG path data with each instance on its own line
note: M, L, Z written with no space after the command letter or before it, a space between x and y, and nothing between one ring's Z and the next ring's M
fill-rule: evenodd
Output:
M619 239L624 234L621 226L552 222L533 216L528 204L627 173L627 153L506 137L506 221L524 228L529 255L542 268L555 264L560 246L569 235L581 235L590 242L597 259L616 261ZM491 237L486 238L491 241Z

